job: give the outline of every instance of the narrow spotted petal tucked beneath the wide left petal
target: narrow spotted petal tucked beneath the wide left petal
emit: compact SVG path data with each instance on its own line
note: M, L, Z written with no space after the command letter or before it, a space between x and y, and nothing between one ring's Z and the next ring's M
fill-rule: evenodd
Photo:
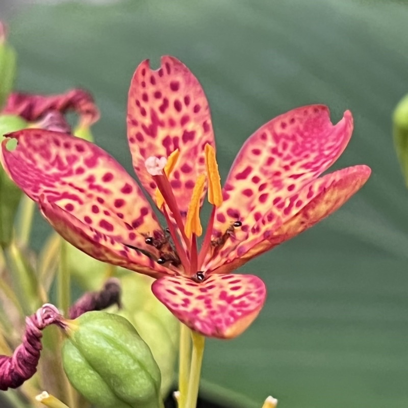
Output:
M157 264L142 252L123 245L120 241L87 224L82 223L55 202L40 197L42 214L55 230L68 242L89 256L112 265L122 266L149 276L172 275L173 271ZM92 271L89 271L92 273Z

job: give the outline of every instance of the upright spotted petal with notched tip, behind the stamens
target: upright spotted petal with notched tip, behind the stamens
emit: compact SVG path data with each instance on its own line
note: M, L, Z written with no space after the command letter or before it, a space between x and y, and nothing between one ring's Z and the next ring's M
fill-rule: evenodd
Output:
M195 181L206 169L204 146L214 145L214 134L206 95L182 62L162 57L155 71L148 60L139 65L129 90L127 137L135 172L154 200L156 184L145 160L180 150L169 180L184 217Z

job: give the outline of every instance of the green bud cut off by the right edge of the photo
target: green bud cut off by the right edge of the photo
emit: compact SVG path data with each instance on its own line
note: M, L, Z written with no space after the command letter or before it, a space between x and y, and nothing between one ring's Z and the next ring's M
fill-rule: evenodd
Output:
M394 110L393 134L398 160L408 187L408 95L399 101Z

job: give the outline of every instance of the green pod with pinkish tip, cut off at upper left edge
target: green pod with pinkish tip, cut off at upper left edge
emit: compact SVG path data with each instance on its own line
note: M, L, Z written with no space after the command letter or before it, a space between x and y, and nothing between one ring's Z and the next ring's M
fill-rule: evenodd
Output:
M6 41L6 30L0 21L0 109L13 89L16 60L14 48Z

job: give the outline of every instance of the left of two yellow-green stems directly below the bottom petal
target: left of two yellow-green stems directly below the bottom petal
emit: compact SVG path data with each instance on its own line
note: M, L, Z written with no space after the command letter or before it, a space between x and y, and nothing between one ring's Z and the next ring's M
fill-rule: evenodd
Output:
M191 365L191 338L190 329L180 323L180 354L179 354L179 391L178 406L184 408L187 401L189 370Z

